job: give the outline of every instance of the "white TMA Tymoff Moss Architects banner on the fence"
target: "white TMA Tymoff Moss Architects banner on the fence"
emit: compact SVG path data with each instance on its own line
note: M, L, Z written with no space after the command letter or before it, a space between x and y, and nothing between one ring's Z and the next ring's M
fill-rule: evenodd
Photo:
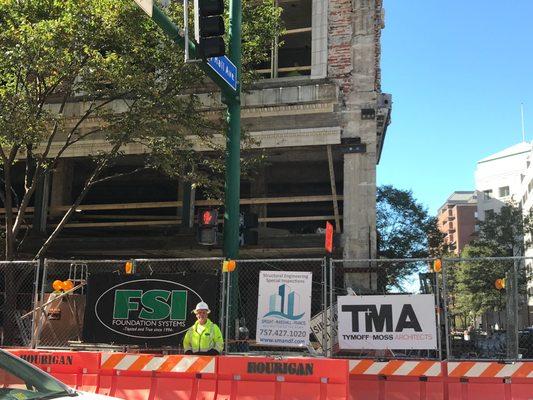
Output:
M431 294L338 297L341 349L436 349Z

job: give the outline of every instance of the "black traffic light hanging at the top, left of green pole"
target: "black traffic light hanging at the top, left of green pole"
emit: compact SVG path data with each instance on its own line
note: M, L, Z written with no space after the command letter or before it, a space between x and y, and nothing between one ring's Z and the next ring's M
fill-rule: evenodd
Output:
M194 37L201 58L225 54L223 14L224 0L194 1Z

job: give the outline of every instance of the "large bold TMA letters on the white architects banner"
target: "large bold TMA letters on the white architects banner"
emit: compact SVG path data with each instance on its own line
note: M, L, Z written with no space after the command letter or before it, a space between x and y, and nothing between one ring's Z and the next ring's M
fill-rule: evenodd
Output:
M411 304L404 304L397 318L394 318L392 313L392 304L382 304L379 310L374 304L349 304L343 305L341 311L352 314L353 332L362 332L359 327L359 313L365 315L365 332L403 332L405 329L422 332Z

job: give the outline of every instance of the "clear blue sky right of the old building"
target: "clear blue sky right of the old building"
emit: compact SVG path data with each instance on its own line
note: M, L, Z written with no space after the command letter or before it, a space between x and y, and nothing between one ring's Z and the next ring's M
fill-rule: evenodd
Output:
M385 0L382 90L392 123L378 184L435 214L473 190L476 161L533 139L533 0ZM531 127L531 129L529 129Z

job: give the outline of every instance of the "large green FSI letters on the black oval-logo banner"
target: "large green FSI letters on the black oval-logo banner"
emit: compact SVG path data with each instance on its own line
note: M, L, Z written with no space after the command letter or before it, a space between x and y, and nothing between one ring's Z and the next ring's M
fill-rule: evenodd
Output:
M184 320L187 313L187 292L185 290L116 290L113 307L114 319L129 319L131 312L138 312L137 318L160 321Z

